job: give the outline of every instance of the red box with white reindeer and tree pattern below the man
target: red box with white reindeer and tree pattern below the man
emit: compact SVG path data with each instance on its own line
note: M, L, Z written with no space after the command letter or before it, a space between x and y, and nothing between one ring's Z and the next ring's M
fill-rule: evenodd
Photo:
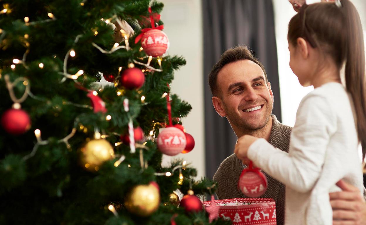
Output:
M276 225L276 203L272 198L231 198L216 200L219 216L234 225ZM203 202L204 206L211 201Z

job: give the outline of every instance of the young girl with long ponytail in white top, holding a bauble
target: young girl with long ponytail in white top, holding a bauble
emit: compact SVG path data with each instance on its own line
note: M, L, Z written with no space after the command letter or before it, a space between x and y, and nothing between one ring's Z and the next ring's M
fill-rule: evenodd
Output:
M329 192L336 182L363 193L358 144L365 149L365 52L356 8L349 0L302 5L288 25L288 45L300 84L314 86L299 105L289 152L245 135L235 153L285 184L286 225L331 225Z

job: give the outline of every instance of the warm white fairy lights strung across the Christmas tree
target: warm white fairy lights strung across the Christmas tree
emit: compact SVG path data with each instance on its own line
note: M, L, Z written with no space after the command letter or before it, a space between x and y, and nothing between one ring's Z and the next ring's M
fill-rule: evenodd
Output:
M80 5L83 6L85 4L86 0L83 0ZM11 9L9 8L9 5L8 4L4 4L4 9L0 11L0 14L2 13L10 13L11 12ZM56 19L56 17L51 13L49 12L47 14L47 16L49 17L49 19L45 19L45 20L39 20L39 21L32 21L30 22L30 19L29 17L25 17L24 18L24 22L25 22L25 25L26 26L34 26L36 24L42 24L42 23L49 23L49 22L53 22ZM123 27L123 24L122 22L120 21L120 19L118 18L117 15L114 15L112 18L110 19L103 19L101 18L102 21L104 21L106 24L109 24L111 23L111 21L116 21L120 27ZM98 31L93 31L94 35L98 35ZM126 51L130 51L131 48L130 48L130 45L129 45L129 42L128 42L128 38L130 37L130 35L124 31L123 29L120 29L120 33L122 34L123 36L123 40L121 42L124 42L124 45L121 45L120 43L116 42L112 49L110 50L105 50L105 49L102 49L100 46L98 46L96 43L92 42L91 45L93 45L96 49L98 49L101 53L103 54L112 54L114 52L116 52L117 50L120 50L120 49L125 49ZM3 39L6 37L6 34L7 32L3 29L0 28L0 45L3 41ZM75 37L75 40L74 40L74 43L73 43L73 47L71 49L69 49L64 57L64 61L63 61L63 71L58 71L57 73L62 75L63 78L61 78L60 80L60 84L62 84L63 82L65 82L67 79L72 79L75 83L77 83L77 79L84 74L84 71L83 70L78 70L77 73L75 74L70 74L68 73L68 70L67 70L67 62L69 60L70 57L75 57L76 56L76 52L74 50L75 48L75 45L78 43L79 39L82 37L82 34L79 34ZM26 51L25 53L23 54L23 58L22 59L16 59L14 58L12 60L12 63L10 65L11 69L12 70L15 70L16 69L16 65L22 65L25 69L29 70L29 66L27 65L26 63L26 57L27 55L29 54L29 51L30 51L30 43L29 43L29 35L28 34L25 34L24 35L24 44L26 46ZM140 47L139 51L141 52L143 50L142 47ZM54 58L56 58L56 55L54 56ZM158 72L161 72L163 71L162 69L162 58L160 57L157 57L157 63L159 65L159 69L157 68L154 68L153 66L151 66L151 62L153 60L153 57L150 55L150 56L146 56L146 57L142 57L142 58L138 58L139 60L144 60L145 58L147 58L147 63L143 63L143 62L139 62L138 60L136 59L133 59L132 62L133 63L130 63L128 65L128 67L133 67L134 63L137 64L137 65L141 65L141 66L144 66L146 69L142 69L142 73L145 73L145 71L158 71ZM44 63L40 62L38 63L38 67L40 69L44 69L46 65L44 65ZM118 69L119 71L119 74L120 72L122 71L122 67L119 67ZM1 72L1 71L0 71ZM120 75L118 75L116 78L120 77ZM0 73L0 79L1 79L1 73ZM9 75L4 75L4 79L5 79L5 83L7 85L7 88L8 88L8 91L9 91L9 94L10 94L10 97L12 99L12 101L14 102L13 104L13 108L14 109L20 109L20 103L25 101L26 98L29 96L33 99L36 99L38 101L48 101L46 98L41 98L41 97L38 97L36 95L34 95L31 90L30 90L30 82L29 80L26 78L26 77L18 77L16 78L13 82L10 81L10 78L9 78ZM15 94L14 94L14 90L13 90L13 87L18 83L18 82L23 82L23 85L25 86L25 92L23 94L22 97L20 97L19 99L15 97ZM118 84L116 84L115 82L115 87L117 87ZM102 89L99 89L99 91L102 91ZM122 96L124 94L124 90L119 90L117 89L117 96ZM141 92L139 92L140 94ZM92 91L92 94L94 96L97 96L98 95L98 92L96 90L93 90ZM167 96L168 93L163 93L161 98L165 98ZM145 96L141 96L141 103L143 105L145 104L149 104L149 102L145 102ZM93 109L93 107L89 106L89 105L83 105L83 104L77 104L77 103L74 103L74 102L70 102L70 101L63 101L63 104L67 104L67 105L73 105L75 107L80 107L80 108L87 108L87 109ZM129 111L128 109L128 99L125 98L124 99L124 110L126 112ZM112 116L111 115L107 115L105 117L105 119L107 121L111 120L112 119ZM161 127L163 127L163 124L161 123L158 123L158 122L155 122L153 121L153 128L152 130L149 132L149 135L147 137L150 137L150 140L153 140L153 137L154 137L154 133L155 133L155 129L156 129L156 126L157 125L160 125ZM66 135L65 137L59 139L59 140L56 140L56 143L64 143L67 147L68 150L71 150L71 145L69 143L69 140L75 135L77 129L83 129L83 131L87 131L86 130L86 127L84 127L82 124L80 124L80 119L78 117L75 118L74 120L74 126L72 127L71 129L71 132L68 133L68 135ZM100 132L98 131L98 129L96 129L94 131L94 138L95 139L99 139L99 138L102 138L102 139L105 139L106 137L108 137L107 134L105 134L104 131L102 131L103 134L100 134ZM128 122L128 134L130 136L130 152L132 154L135 153L136 149L139 149L139 159L140 159L140 166L142 169L146 169L148 167L148 163L146 160L143 159L143 150L145 151L148 151L149 148L146 146L146 142L143 143L143 144L140 144L140 143L135 143L134 142L134 128L133 128L133 123L132 123L132 117L129 116L129 122ZM33 146L33 149L31 150L31 152L25 156L23 156L23 161L26 161L30 158L32 158L34 155L36 155L37 153L37 150L40 146L44 146L44 145L47 145L50 143L49 140L42 140L42 137L41 137L41 130L40 129L35 129L34 130L34 135L36 137L36 140L37 140L37 143L34 144ZM119 133L111 133L111 135L117 135L117 136L120 136ZM89 139L89 138L88 138ZM89 139L90 140L90 139ZM114 145L115 146L119 146L120 144L122 144L122 142L116 142ZM124 160L126 159L126 156L124 155L120 155L119 156L119 159L114 163L114 166L115 167L118 167ZM128 167L131 167L130 164L128 164ZM168 171L168 172L156 172L154 173L156 176L172 176L172 174L174 174L174 172L176 170L179 170L179 181L178 181L178 184L179 185L182 185L183 184L183 173L182 173L182 170L185 170L186 169L186 161L184 161L182 163L182 165L178 165L178 166L175 166L174 168L172 168L171 171ZM97 170L97 169L96 169ZM191 187L191 181L190 181L190 187ZM117 217L118 216L118 213L115 209L115 207L113 205L109 205L108 206L108 209Z

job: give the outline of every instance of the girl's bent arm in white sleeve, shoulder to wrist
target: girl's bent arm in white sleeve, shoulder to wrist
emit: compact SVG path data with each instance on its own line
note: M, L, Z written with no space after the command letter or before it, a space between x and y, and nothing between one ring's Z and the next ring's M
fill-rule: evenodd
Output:
M336 116L321 96L306 96L300 103L291 133L289 153L265 139L248 149L247 157L273 178L300 192L311 190L320 176Z

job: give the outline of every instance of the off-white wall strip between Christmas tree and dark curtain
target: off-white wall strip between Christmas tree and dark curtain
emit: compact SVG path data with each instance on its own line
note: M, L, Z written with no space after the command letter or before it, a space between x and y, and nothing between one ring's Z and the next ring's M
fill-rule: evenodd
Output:
M197 168L197 179L205 175L205 136L203 109L203 49L202 7L200 0L161 0L164 9L161 20L170 41L169 55L182 55L187 65L175 72L171 93L192 106L182 119L184 128L195 140L194 149L187 154L164 155L163 165L172 158L184 158Z

